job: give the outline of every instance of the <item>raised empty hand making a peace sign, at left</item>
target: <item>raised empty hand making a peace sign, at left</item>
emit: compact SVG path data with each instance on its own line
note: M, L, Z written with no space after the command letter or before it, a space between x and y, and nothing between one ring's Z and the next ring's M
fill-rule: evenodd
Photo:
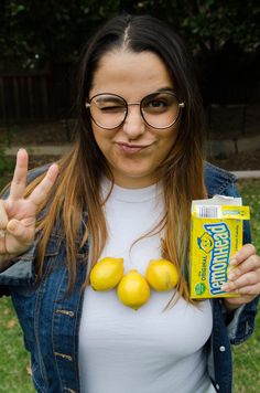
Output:
M32 245L37 206L44 201L57 178L58 167L54 163L30 197L24 199L28 161L26 150L20 149L10 194L8 199L0 200L0 269Z

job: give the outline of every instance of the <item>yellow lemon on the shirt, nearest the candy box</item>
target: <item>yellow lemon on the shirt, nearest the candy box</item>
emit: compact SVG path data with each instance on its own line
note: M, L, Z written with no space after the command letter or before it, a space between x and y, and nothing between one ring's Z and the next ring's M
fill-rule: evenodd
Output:
M145 277L154 290L170 290L178 282L176 266L167 259L151 259L147 268Z

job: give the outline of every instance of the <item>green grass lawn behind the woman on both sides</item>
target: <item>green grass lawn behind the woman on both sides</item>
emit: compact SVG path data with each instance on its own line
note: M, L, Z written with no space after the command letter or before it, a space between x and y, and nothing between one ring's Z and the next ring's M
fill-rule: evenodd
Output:
M7 179L0 179L0 189ZM252 240L260 253L260 180L239 181L243 204L251 208ZM18 319L9 298L0 301L0 393L34 392L30 375L30 359L23 349ZM260 312L256 331L242 346L234 348L235 393L257 393L260 386Z

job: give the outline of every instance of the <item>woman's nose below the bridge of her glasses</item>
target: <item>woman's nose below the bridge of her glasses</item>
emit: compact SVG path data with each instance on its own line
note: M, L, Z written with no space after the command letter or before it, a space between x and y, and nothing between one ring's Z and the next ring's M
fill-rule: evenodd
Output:
M145 130L145 124L140 113L139 105L131 105L128 107L128 115L123 123L123 131L129 139L138 139Z

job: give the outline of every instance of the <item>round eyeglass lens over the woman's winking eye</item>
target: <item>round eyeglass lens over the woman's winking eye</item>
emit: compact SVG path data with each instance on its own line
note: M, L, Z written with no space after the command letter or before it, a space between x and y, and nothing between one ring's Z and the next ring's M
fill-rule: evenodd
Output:
M90 100L94 121L104 128L116 128L123 123L127 106L124 100L113 94L99 94Z

